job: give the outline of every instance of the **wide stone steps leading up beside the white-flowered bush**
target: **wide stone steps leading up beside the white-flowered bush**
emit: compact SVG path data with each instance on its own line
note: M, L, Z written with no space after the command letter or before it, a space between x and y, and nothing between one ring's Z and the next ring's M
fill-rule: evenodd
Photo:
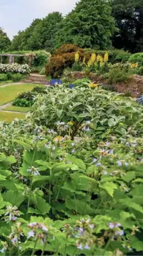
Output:
M39 75L37 73L31 73L29 77L26 77L21 82L36 84L36 85L49 85L49 81L46 80L46 75Z

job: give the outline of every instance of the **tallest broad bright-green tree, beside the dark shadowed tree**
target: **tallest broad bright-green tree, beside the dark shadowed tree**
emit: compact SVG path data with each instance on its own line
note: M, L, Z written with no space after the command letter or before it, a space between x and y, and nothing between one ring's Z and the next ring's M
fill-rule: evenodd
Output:
M79 47L107 49L114 34L112 8L106 0L81 0L66 15L56 34L56 47L76 44Z

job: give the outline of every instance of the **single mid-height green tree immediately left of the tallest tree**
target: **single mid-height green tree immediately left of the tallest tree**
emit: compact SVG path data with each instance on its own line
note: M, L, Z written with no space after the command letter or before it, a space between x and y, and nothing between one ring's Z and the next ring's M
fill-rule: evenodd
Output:
M54 49L54 38L59 29L62 15L56 11L48 14L29 37L28 45L30 49L46 49L51 52Z

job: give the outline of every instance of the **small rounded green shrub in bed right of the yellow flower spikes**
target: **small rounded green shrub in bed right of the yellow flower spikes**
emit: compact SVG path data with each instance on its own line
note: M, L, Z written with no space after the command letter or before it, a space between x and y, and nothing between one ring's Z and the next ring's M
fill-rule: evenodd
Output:
M109 71L108 84L116 84L117 82L127 82L129 80L129 73L119 68L114 68Z

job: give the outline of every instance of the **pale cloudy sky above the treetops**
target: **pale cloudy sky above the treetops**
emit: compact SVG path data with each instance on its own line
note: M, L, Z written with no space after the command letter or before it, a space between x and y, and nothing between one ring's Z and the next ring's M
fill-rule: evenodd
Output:
M0 27L12 37L29 27L36 18L44 18L52 11L67 14L77 0L0 0Z

